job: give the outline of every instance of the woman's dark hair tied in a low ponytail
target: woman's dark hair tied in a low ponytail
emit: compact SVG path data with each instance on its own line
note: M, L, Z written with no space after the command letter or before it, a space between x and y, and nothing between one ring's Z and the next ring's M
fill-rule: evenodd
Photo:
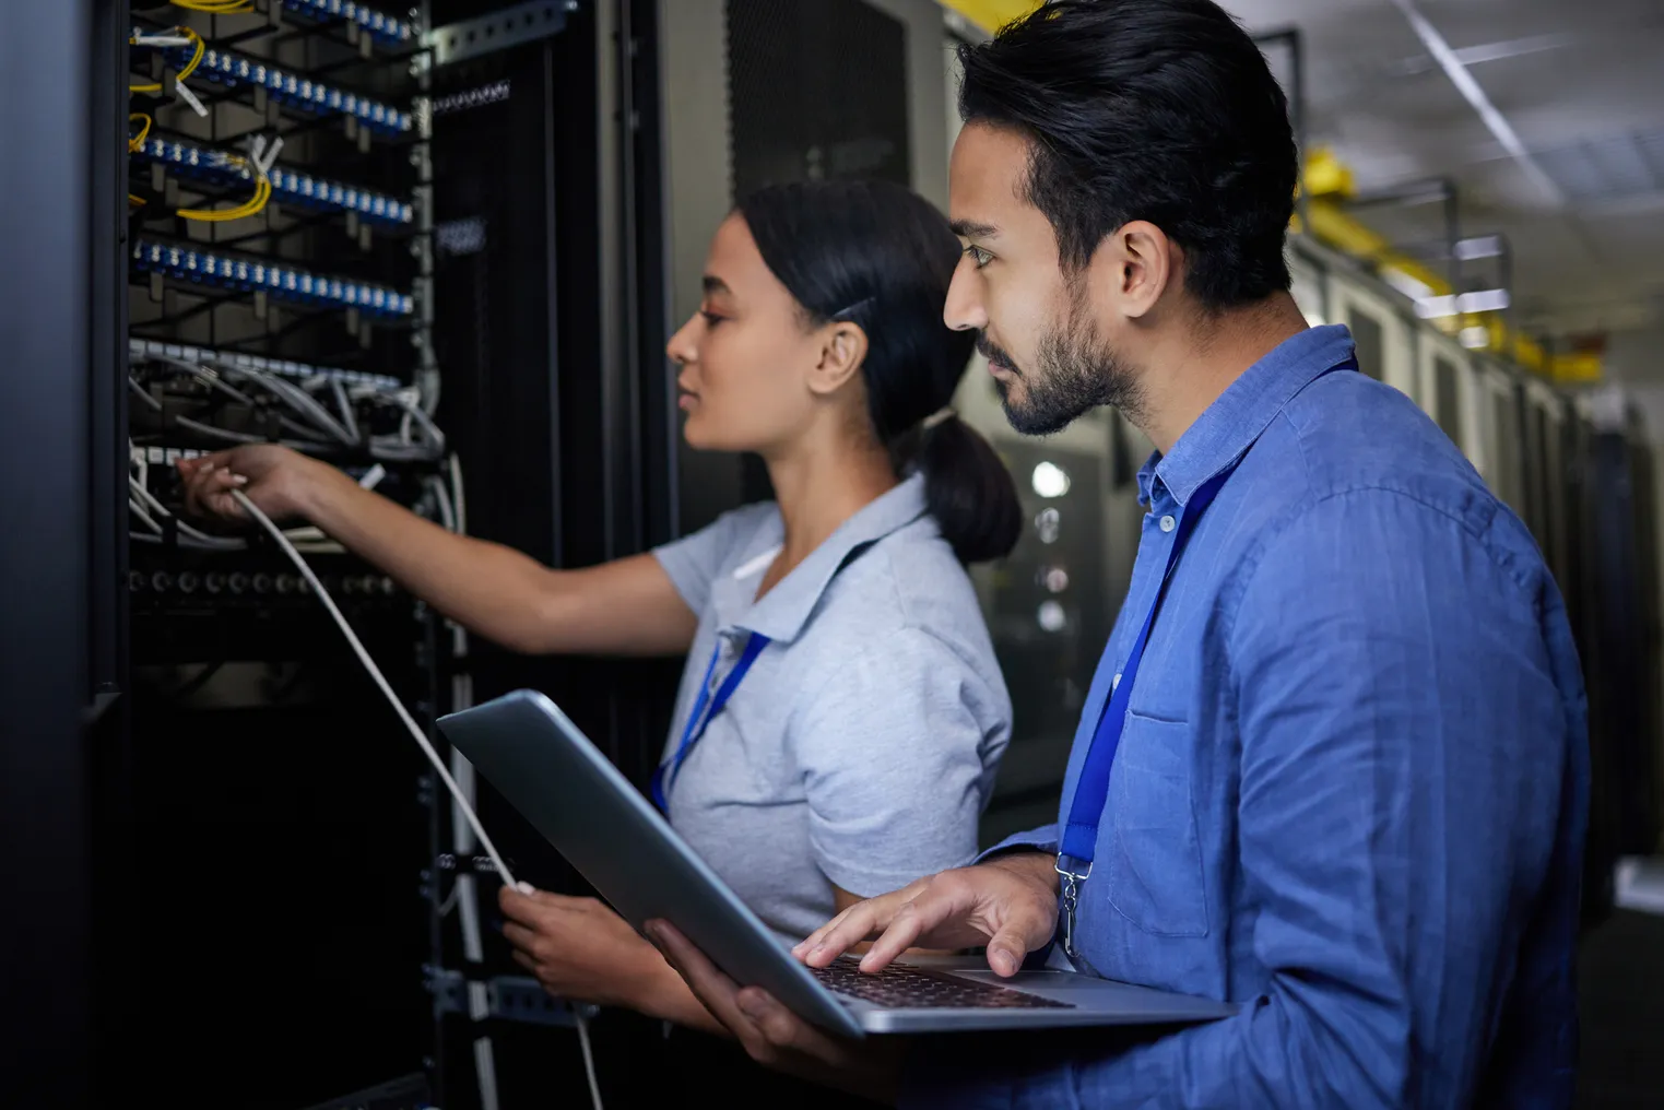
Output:
M739 203L762 253L814 325L867 333L867 408L899 471L925 478L925 504L962 562L1008 554L1022 533L1017 486L993 448L953 414L975 343L942 323L958 238L930 201L885 181L770 185Z

